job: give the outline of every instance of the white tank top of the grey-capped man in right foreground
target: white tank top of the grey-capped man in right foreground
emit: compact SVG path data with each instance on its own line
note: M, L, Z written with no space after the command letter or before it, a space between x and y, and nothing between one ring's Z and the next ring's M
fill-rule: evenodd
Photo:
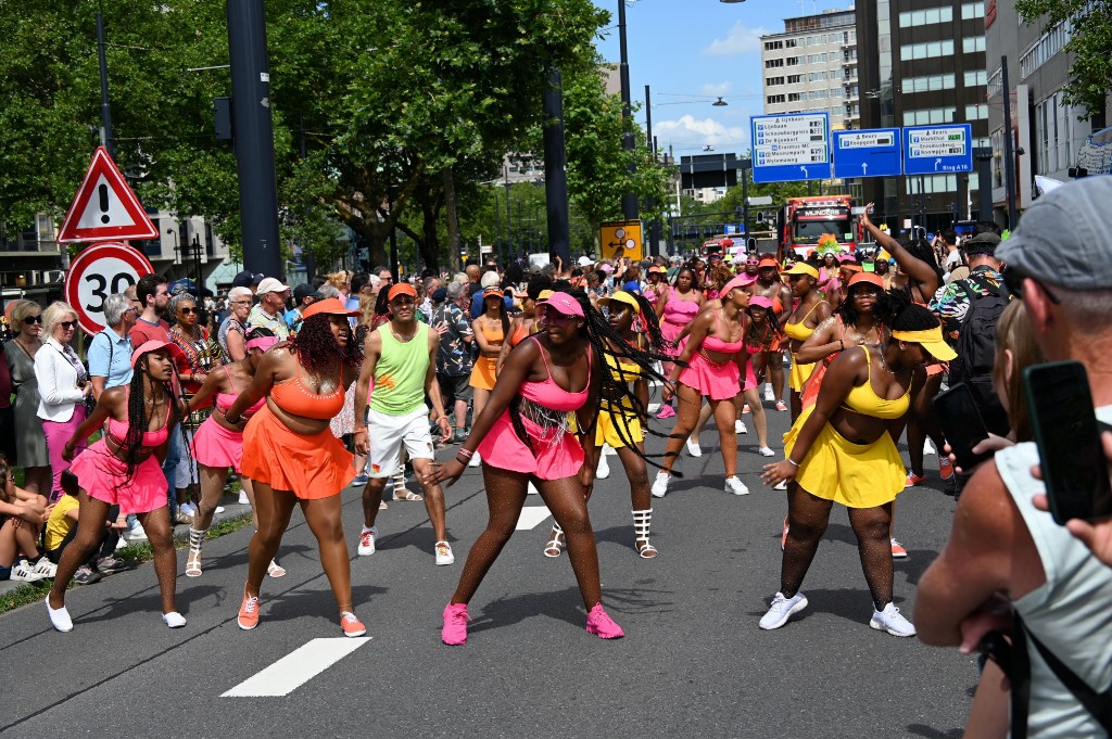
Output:
M1096 409L1112 423L1112 406ZM1019 600L1015 610L1027 630L1096 691L1112 685L1112 568L1059 526L1050 513L1036 510L1031 497L1045 489L1031 477L1039 462L1034 442L996 452L1000 477L1015 500L1039 550L1046 582ZM1031 658L1031 739L1106 737L1089 711L1054 677L1039 651Z

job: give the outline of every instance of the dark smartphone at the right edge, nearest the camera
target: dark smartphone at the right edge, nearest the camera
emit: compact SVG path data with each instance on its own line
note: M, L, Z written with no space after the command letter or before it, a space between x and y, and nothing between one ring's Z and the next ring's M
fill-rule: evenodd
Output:
M1081 362L1029 367L1023 389L1054 521L1112 516L1112 482L1085 368Z

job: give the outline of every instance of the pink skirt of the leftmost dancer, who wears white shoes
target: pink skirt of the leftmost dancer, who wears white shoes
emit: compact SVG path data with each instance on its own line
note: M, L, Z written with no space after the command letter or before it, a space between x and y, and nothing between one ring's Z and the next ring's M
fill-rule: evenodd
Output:
M166 476L155 455L141 461L128 479L128 463L101 439L73 459L70 472L90 498L118 505L121 513L149 513L166 506Z

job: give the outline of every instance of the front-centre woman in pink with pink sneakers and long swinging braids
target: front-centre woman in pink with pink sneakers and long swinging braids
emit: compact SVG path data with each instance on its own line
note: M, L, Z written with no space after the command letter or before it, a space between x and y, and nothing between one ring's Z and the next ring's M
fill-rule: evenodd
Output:
M567 538L587 610L587 632L604 639L624 636L602 603L598 552L587 515L587 491L594 485L597 460L587 440L603 400L622 406L634 398L627 383L599 371L606 346L651 376L652 363L662 354L627 343L582 291L575 297L553 293L540 308L540 320L543 330L510 352L489 402L456 458L435 475L436 480L451 485L471 457L481 453L490 510L486 530L468 552L456 592L444 609L440 638L446 645L467 641L467 605L513 536L529 480L539 488ZM570 428L573 412L577 433Z

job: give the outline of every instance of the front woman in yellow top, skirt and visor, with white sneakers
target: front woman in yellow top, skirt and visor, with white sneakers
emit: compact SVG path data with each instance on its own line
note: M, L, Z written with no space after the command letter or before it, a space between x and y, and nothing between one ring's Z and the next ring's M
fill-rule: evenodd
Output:
M852 292L852 288L851 288ZM766 465L766 485L788 481L791 530L781 565L781 587L762 629L778 629L807 606L800 586L830 520L842 503L857 537L865 580L873 598L868 626L896 637L915 635L892 602L888 527L892 505L904 489L904 467L888 429L907 413L931 358L954 351L939 319L911 303L905 291L888 293L892 333L880 347L852 347L831 362L814 406L785 436L785 459Z

